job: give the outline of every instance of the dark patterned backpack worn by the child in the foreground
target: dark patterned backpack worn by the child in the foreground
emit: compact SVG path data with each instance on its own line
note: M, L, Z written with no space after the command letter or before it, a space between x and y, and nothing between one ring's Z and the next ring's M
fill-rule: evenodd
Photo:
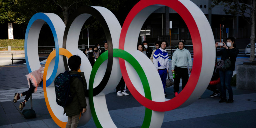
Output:
M65 71L64 73L60 73L54 80L56 102L62 107L68 106L73 100L70 92L72 77L78 77L80 80L82 79L78 74L70 75L69 71Z

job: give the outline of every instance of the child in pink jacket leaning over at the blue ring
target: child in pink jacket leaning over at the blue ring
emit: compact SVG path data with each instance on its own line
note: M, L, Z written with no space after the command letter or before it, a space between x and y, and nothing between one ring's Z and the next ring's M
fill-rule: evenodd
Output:
M13 98L13 102L16 103L20 99L20 97L26 96L24 101L20 103L20 106L19 106L20 111L23 109L23 107L25 107L25 104L28 101L31 94L36 93L37 86L43 80L43 75L44 75L44 67L40 67L38 70L35 70L26 75L29 89L23 93L15 93Z

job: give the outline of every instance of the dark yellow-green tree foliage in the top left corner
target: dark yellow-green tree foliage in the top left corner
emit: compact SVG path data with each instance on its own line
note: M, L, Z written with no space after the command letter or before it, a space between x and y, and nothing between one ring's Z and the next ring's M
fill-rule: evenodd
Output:
M27 24L34 14L56 12L56 7L50 0L0 0L0 23Z

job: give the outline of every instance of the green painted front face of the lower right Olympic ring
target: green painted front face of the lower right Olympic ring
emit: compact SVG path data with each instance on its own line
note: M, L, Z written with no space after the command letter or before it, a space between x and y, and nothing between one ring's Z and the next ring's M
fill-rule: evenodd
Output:
M146 77L145 72L143 71L141 65L139 64L139 62L128 52L122 50L122 49L113 49L113 57L119 57L122 58L124 60L126 60L127 62L129 62L132 67L135 69L135 71L137 72L137 74L140 77L140 80L143 81L142 82L142 86L145 92L145 97L149 100L152 100L151 97L151 92L150 92L150 87L148 84L148 80ZM95 108L94 108L94 103L93 103L93 82L95 79L95 75L97 73L97 70L99 69L100 65L108 59L108 51L102 53L99 58L97 59L97 61L95 62L93 68L92 68L92 72L90 75L90 80L89 80L89 103L90 103L90 108L91 108L91 113L92 113L92 117L93 120L96 124L96 126L98 128L102 128L100 121L97 117ZM143 124L142 124L142 128L148 128L151 122L151 117L152 117L152 110L146 108L145 109L145 116L144 116L144 120L143 120ZM112 119L111 119L112 120Z

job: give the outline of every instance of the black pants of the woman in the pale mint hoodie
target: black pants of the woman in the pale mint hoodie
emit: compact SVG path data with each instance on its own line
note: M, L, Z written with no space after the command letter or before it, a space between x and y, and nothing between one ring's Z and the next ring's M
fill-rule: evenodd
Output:
M180 68L175 66L174 67L174 71L175 71L175 78L174 78L174 93L175 92L179 92L180 90L180 78L182 79L182 86L181 88L183 89L185 87L185 85L188 82L188 68Z

